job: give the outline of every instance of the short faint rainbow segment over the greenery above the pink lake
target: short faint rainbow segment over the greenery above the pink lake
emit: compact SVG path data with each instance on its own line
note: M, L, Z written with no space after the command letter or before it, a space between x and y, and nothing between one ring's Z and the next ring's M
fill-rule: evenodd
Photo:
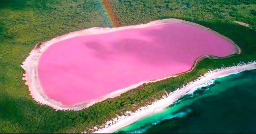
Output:
M96 6L107 27L118 27L118 21L108 0L97 0Z

